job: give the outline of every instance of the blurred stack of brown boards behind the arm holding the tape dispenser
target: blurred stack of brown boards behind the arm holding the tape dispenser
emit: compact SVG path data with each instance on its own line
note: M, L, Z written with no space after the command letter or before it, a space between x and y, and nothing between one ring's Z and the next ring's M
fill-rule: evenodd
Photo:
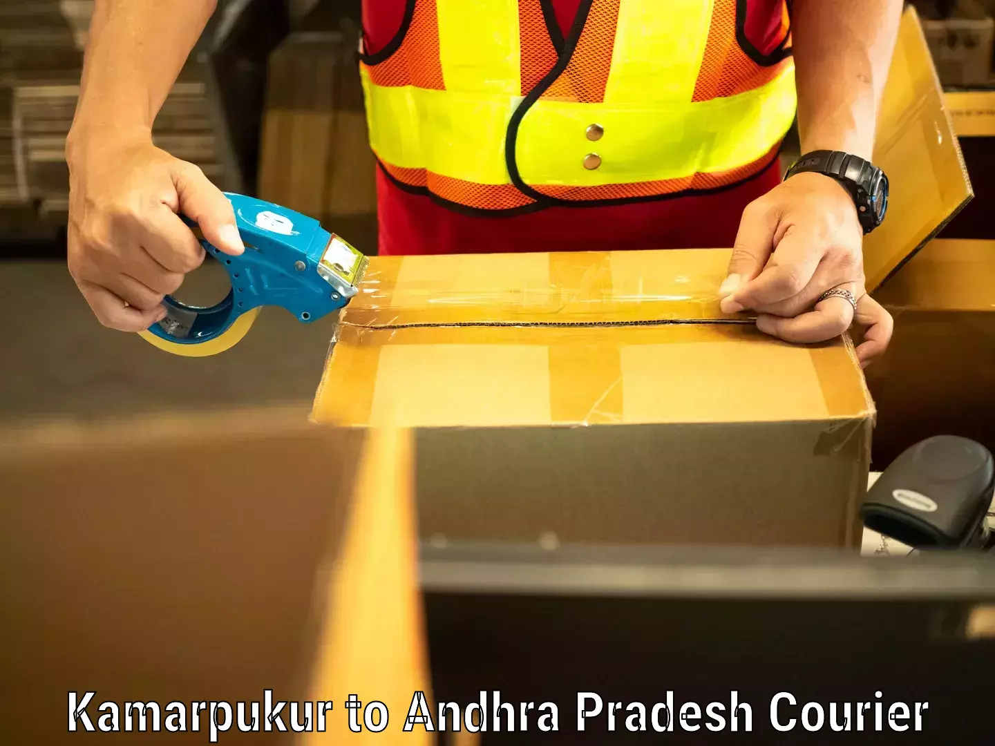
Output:
M0 207L30 205L41 221L56 225L66 220L65 143L92 13L89 0L0 4ZM208 60L193 56L153 136L159 147L196 163L222 188L238 190L212 85Z

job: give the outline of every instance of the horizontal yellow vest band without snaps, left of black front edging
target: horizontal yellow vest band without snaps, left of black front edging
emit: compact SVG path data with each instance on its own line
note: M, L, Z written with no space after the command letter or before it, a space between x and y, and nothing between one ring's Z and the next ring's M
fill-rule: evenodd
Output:
M362 71L370 145L400 168L507 184L504 136L518 96L375 86Z

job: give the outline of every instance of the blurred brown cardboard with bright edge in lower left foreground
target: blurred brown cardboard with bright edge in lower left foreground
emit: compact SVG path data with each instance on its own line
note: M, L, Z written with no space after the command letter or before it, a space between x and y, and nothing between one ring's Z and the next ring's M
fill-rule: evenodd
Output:
M350 693L406 712L427 690L409 452L296 410L0 432L0 742L208 743L207 711L199 732L188 712L187 732L153 735L136 715L124 732L124 703L268 688L333 710L324 733L254 742L341 743ZM121 732L68 732L68 692L88 690L94 726L109 700Z

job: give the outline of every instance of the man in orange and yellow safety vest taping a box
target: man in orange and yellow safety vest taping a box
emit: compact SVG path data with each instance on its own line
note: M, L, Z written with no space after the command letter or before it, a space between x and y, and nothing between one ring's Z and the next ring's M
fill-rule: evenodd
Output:
M67 143L69 266L113 328L161 319L163 294L203 261L177 212L223 252L244 251L223 195L150 138L214 6L95 4ZM867 365L892 319L864 287L862 237L879 203L861 202L871 182L851 176L877 171L900 10L901 0L365 0L380 252L732 245L723 310L754 311L763 332L792 342L856 321ZM802 151L814 155L781 182L796 101Z

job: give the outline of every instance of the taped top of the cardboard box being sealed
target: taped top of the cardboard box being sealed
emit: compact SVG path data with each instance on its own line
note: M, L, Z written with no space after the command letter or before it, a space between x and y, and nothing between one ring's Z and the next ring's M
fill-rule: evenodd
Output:
M698 259L724 271L722 254ZM841 351L839 342L771 339L750 319L715 312L721 272L668 276L662 262L645 273L631 256L525 255L517 285L513 274L483 282L489 262L477 258L434 281L439 263L371 262L360 302L336 326L314 418L351 427L584 426L832 420L873 408L849 341ZM678 267L676 256L664 259ZM712 289L661 291L675 286ZM820 455L842 448L834 433Z

